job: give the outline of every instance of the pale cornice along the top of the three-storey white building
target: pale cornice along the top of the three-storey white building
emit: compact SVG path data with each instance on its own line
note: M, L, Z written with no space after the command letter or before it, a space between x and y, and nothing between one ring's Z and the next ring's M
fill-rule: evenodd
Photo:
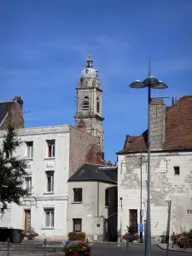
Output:
M18 136L38 135L49 133L69 132L69 125L40 126L32 128L23 128L17 130ZM4 136L5 131L0 131L0 137Z

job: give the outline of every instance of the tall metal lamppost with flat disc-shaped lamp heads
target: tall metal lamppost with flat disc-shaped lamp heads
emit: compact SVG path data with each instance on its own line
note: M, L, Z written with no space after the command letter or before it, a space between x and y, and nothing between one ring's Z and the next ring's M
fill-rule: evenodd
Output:
M148 200L147 200L147 224L146 224L146 241L145 256L151 254L151 212L150 212L150 102L151 89L166 89L168 86L162 81L155 79L151 75L150 58L148 61L148 78L144 81L136 80L130 84L131 88L143 89L148 88Z

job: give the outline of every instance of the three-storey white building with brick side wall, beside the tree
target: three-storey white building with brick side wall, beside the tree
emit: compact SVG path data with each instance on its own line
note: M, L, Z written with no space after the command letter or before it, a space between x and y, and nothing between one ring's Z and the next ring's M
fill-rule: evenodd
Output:
M3 141L4 132L0 138ZM16 155L26 157L26 187L31 192L22 206L9 205L0 226L26 229L40 237L67 238L67 180L85 161L96 138L71 125L18 130L23 142Z

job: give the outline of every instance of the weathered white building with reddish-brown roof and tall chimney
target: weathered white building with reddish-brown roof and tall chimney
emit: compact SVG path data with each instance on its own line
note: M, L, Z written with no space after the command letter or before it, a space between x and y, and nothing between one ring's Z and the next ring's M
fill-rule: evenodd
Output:
M127 225L137 227L140 223L141 189L143 224L146 220L147 142L147 131L139 137L127 136L118 153L119 240ZM161 100L152 100L150 143L151 236L160 241L167 226L167 201L172 201L171 235L192 228L191 96L183 96L172 108L166 108Z

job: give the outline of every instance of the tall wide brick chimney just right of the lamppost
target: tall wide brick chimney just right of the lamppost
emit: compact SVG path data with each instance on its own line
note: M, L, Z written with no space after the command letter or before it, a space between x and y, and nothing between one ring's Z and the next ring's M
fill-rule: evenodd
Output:
M162 150L166 137L166 105L163 99L151 99L150 128L151 150Z

